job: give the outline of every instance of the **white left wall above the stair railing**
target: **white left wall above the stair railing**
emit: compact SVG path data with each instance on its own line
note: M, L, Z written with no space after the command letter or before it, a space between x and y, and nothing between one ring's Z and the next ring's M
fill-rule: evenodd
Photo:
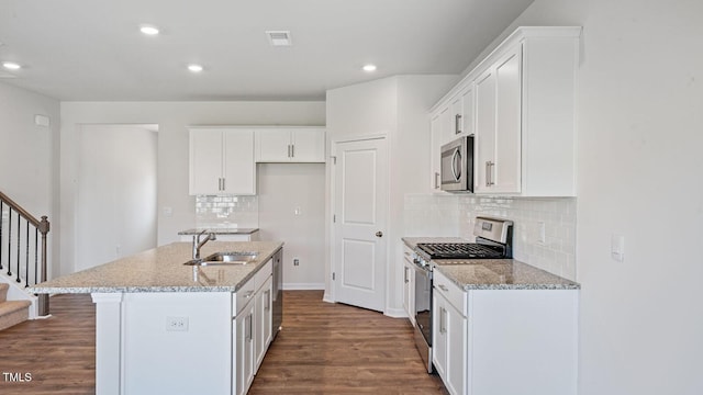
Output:
M51 125L35 125L35 115L48 116ZM59 125L57 100L0 82L0 191L35 217L48 216L49 275L58 264L53 252L59 242L59 218L54 217Z

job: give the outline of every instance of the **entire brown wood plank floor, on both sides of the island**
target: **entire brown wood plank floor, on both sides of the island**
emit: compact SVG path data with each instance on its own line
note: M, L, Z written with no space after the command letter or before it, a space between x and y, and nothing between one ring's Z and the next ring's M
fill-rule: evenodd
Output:
M52 297L54 317L0 331L0 394L94 394L96 324L89 295ZM283 330L249 394L446 394L423 369L405 319L286 291Z

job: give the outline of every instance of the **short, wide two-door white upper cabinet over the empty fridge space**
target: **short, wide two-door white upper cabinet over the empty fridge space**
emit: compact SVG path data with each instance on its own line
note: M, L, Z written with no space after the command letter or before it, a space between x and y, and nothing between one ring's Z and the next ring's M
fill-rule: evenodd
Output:
M325 129L322 127L257 128L257 162L324 162Z

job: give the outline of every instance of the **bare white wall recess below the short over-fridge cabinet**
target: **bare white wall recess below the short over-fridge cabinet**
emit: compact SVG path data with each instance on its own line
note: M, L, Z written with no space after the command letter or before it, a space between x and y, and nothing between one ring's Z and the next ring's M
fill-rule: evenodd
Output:
M286 242L283 289L323 290L325 165L260 163L257 176L260 238Z

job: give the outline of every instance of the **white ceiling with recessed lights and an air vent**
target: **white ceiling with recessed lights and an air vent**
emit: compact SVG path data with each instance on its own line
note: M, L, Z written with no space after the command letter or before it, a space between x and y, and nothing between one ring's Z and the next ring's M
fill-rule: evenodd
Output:
M23 66L0 67L0 81L62 101L324 100L393 75L460 74L532 2L0 0L0 61ZM268 30L293 45L272 47Z

